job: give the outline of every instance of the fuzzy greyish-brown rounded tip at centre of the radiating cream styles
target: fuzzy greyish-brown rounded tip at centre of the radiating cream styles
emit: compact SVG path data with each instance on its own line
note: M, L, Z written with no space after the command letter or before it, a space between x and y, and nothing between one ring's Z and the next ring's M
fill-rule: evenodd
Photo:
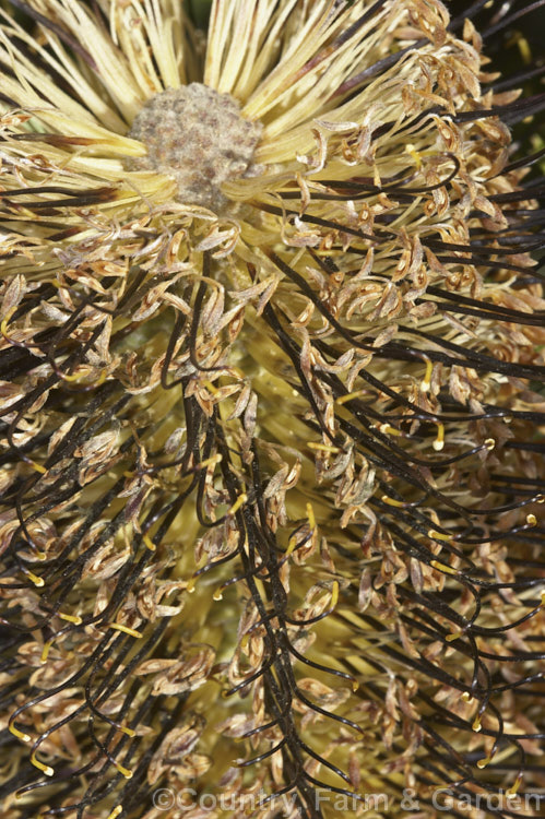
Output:
M256 176L252 162L261 124L240 115L229 94L201 83L168 88L151 97L137 115L129 136L147 155L132 158L130 170L156 170L174 177L180 202L225 210L223 182Z

